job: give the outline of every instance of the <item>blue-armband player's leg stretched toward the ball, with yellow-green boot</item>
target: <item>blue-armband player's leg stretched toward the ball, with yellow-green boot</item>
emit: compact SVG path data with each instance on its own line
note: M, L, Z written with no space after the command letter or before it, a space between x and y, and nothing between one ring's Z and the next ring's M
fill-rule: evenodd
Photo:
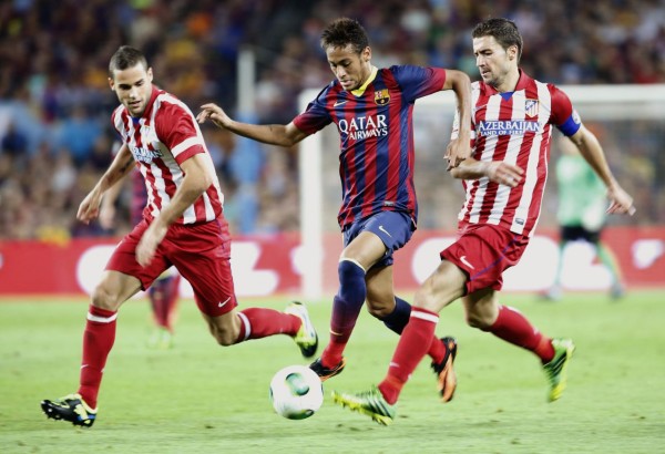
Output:
M467 275L449 261L441 261L416 292L409 323L405 327L386 378L376 389L360 393L338 393L334 401L367 414L381 424L395 417L395 403L409 376L427 354L439 321L439 311L464 293Z

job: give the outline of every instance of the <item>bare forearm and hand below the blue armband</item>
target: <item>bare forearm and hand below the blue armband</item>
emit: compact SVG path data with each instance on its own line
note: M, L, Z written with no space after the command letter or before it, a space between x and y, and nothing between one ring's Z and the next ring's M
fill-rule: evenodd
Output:
M581 125L580 130L570 136L570 140L577 146L584 159L586 159L596 175L603 180L605 187L607 187L607 197L610 197L611 200L607 213L627 213L632 216L635 213L633 197L631 197L614 178L614 175L607 165L607 159L605 159L603 147L595 134L584 127L584 125Z

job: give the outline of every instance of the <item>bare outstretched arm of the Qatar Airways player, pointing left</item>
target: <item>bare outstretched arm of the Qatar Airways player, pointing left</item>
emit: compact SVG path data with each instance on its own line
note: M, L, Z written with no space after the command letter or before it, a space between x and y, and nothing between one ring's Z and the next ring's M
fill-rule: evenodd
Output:
M228 130L243 137L253 138L265 144L288 147L307 137L307 134L298 130L294 122L286 125L258 125L236 122L231 118L222 107L213 103L202 105L201 112L196 115L196 121L198 123L205 123L206 120L211 120L217 127Z

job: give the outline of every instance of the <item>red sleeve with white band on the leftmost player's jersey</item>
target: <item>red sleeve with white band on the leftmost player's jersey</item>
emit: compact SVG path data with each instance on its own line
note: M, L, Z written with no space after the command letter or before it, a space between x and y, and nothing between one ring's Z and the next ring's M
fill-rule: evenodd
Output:
M194 115L177 104L166 104L161 109L155 131L161 142L171 149L175 162L180 165L195 154L205 153Z

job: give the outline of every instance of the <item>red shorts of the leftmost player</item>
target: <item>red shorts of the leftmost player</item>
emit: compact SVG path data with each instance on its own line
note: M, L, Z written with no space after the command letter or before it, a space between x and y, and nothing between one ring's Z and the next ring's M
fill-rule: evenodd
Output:
M194 289L198 309L211 317L222 316L237 306L231 274L231 235L224 217L197 224L173 224L145 268L136 261L136 246L147 229L144 219L117 245L106 264L141 281L143 290L174 266Z

